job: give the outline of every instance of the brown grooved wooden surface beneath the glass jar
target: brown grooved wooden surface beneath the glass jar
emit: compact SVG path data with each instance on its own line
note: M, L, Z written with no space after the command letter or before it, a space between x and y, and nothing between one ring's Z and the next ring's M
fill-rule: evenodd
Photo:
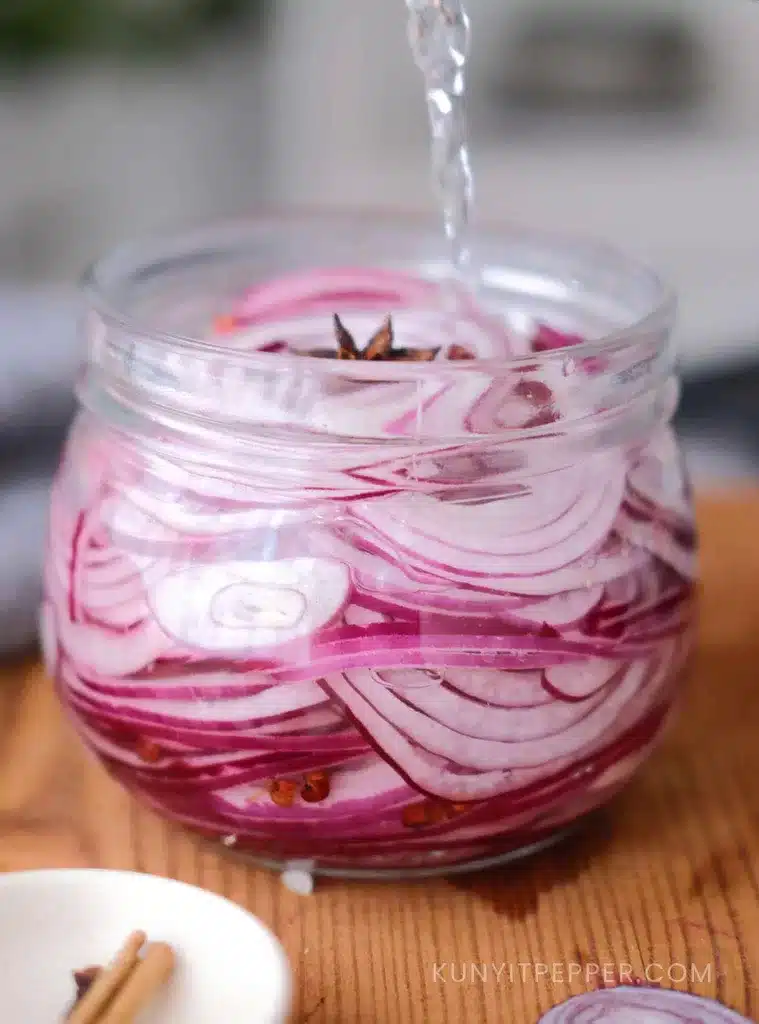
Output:
M623 797L553 851L464 880L324 882L297 897L136 806L39 667L16 664L0 670L0 869L135 868L239 901L284 941L301 1024L534 1024L627 974L759 1015L759 492L702 501L700 517L684 712Z

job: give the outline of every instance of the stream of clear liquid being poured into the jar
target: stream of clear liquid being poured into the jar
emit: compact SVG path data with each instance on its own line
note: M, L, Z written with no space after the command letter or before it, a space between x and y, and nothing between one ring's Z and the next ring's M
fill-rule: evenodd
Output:
M473 178L467 144L466 63L470 23L462 0L407 0L409 39L424 77L432 173L455 273L470 271Z

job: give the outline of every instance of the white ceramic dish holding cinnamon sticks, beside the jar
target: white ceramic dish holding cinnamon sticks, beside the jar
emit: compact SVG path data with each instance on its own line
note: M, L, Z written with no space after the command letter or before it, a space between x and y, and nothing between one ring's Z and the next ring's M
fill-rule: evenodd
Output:
M62 1018L74 970L107 964L141 929L169 942L177 970L139 1024L283 1024L290 969L275 936L235 903L129 871L0 876L0 1019Z

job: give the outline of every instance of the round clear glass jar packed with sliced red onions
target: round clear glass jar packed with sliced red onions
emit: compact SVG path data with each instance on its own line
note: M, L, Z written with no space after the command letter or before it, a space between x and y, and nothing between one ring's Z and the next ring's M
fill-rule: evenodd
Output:
M47 664L117 779L267 863L523 855L627 782L677 693L672 297L607 248L504 231L475 304L444 251L413 222L271 218L88 282Z

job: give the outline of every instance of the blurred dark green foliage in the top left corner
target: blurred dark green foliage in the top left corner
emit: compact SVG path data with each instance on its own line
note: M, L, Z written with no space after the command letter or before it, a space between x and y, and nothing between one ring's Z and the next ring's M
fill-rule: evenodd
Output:
M0 0L0 65L180 55L209 36L259 29L269 0Z

